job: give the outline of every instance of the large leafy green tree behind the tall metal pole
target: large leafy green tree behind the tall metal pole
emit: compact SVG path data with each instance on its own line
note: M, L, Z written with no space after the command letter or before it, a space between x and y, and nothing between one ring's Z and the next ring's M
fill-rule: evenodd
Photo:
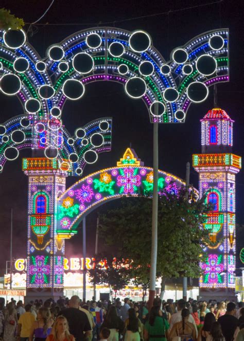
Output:
M211 244L208 231L201 228L206 213L205 196L197 198L194 190L177 189L159 195L157 277L197 278L203 260L203 246ZM186 193L189 193L186 199ZM138 282L148 283L151 249L151 210L148 196L123 198L121 205L100 216L101 236L107 246L116 244L116 256L133 260L130 270Z

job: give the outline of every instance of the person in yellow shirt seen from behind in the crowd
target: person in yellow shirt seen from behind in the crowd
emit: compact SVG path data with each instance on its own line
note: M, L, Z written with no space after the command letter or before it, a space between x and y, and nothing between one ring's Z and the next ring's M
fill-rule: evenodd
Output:
M35 320L34 315L31 314L31 308L31 304L26 304L25 312L19 318L17 336L20 341L29 340L31 328Z

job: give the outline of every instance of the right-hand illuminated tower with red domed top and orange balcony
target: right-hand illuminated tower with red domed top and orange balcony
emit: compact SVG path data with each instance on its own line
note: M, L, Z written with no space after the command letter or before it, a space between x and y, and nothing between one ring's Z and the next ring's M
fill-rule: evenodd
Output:
M235 271L235 175L240 156L232 154L233 120L222 109L212 109L201 120L202 154L193 155L199 173L200 196L212 203L204 228L210 232L207 260L202 263L200 296L234 296Z

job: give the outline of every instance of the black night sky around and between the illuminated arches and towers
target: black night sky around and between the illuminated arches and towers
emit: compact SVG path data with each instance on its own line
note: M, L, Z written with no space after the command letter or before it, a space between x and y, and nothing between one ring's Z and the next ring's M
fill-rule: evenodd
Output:
M8 0L1 1L1 7L10 9L11 13L22 17L26 23L36 21L49 6L51 0ZM211 3L206 6L205 4ZM193 7L191 9L185 9ZM184 10L180 10L184 9ZM180 11L176 11L180 10ZM28 41L45 56L50 44L59 43L68 35L90 27L112 26L133 31L143 29L152 38L153 45L163 57L169 60L170 51L184 45L196 35L216 28L230 29L230 82L221 83L218 88L218 106L225 110L234 123L233 152L244 156L244 26L243 1L211 0L123 0L119 1L84 1L55 0L48 13L39 24L65 25L33 25L28 32ZM171 12L170 12L171 11ZM159 14L166 12L166 14ZM167 14L167 12L169 12ZM158 15L154 15L158 14ZM151 15L151 16L147 16ZM140 19L128 20L142 17ZM70 25L75 24L75 25ZM28 30L29 25L24 27ZM0 123L10 117L23 113L17 97L7 97L0 93ZM159 167L181 178L185 177L185 165L191 162L191 154L201 152L200 122L205 113L214 105L213 87L210 96L204 103L191 104L184 124L159 125ZM74 133L86 122L103 116L113 117L112 151L99 154L95 165L87 165L84 176L105 167L112 167L123 156L130 145L146 166L152 166L152 124L146 106L142 100L130 99L123 85L114 82L96 82L86 85L85 96L77 101L66 101L62 119L66 128ZM9 259L10 252L10 211L13 208L13 257L26 255L27 240L27 177L21 170L22 157L30 157L31 152L24 150L15 161L8 161L0 175L0 275L1 268ZM67 186L78 180L67 178ZM198 186L198 174L191 168L190 183ZM244 172L236 176L236 211L237 223L244 224ZM98 208L106 211L117 204L113 201ZM94 255L95 224L98 210L94 210L87 218L88 255ZM160 242L160 241L159 241ZM100 242L102 244L102 241ZM241 246L239 240L238 246ZM244 242L242 241L242 247ZM150 246L149 246L150 247ZM82 256L82 234L66 243L66 255Z

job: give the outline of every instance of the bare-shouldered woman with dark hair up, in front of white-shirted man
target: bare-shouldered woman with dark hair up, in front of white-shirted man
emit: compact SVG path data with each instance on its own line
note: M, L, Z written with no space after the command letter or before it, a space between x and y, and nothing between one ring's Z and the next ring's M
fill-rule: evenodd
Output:
M181 339L187 341L187 340L197 340L197 333L195 325L191 322L189 322L190 312L188 309L184 308L181 311L181 321L176 322L173 325L173 328L170 331L169 334L169 340L171 340L174 336L179 336Z

